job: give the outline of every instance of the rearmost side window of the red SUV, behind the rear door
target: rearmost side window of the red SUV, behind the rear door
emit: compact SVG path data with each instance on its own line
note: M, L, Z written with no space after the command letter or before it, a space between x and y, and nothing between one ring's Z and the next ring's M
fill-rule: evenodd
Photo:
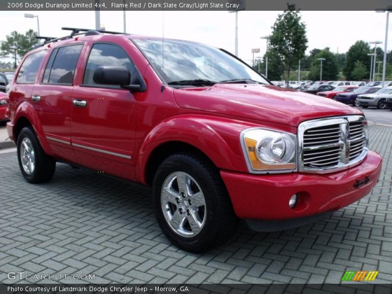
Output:
M16 79L18 84L34 84L38 69L46 53L47 50L41 50L26 57Z

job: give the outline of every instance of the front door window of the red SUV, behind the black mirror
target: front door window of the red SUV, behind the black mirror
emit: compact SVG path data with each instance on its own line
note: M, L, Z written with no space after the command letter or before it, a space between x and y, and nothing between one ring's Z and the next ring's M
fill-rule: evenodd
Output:
M112 44L95 44L91 49L87 60L86 70L83 77L83 85L95 86L94 71L102 65L117 65L126 67L132 73L135 67L123 49ZM99 85L103 86L103 85ZM120 88L120 86L107 85L109 88Z

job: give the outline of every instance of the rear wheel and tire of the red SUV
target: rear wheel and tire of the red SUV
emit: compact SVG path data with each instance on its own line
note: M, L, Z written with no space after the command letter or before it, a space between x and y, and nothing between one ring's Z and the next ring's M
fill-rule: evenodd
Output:
M21 130L17 148L19 168L27 182L44 183L53 177L56 162L42 149L31 127Z

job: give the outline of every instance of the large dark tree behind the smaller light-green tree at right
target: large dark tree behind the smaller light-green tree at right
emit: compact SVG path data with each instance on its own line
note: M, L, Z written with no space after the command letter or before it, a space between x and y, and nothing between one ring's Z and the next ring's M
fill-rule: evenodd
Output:
M370 46L362 40L355 42L355 44L348 49L346 64L343 68L343 73L347 80L354 79L351 73L354 70L356 61L361 61L365 65L365 68L370 70L370 56L368 56L368 53L370 53Z

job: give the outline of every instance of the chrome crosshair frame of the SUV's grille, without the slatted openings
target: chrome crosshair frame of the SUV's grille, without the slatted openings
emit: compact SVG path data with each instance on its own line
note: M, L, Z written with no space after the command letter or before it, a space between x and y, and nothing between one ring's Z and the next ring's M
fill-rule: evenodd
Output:
M353 166L360 164L368 154L368 132L364 129L364 134L360 138L354 138L350 140L350 131L349 131L349 123L352 122L365 122L366 118L364 116L353 115L353 116L341 116L341 117L333 117L333 118L323 118L318 120L306 121L300 123L298 126L298 172L308 172L308 173L329 173L329 172L339 172L343 170L347 170ZM310 149L309 147L304 147L303 138L304 133L307 129L327 126L331 124L339 124L341 128L341 138L338 144L335 144L336 147L341 147L340 160L339 163L332 167L327 168L309 168L304 166L304 150ZM367 126L364 125L364 128ZM350 144L356 142L358 140L365 139L364 149L361 154L354 158L350 159ZM325 146L314 146L311 150L323 149ZM328 147L334 147L333 144L328 145Z

